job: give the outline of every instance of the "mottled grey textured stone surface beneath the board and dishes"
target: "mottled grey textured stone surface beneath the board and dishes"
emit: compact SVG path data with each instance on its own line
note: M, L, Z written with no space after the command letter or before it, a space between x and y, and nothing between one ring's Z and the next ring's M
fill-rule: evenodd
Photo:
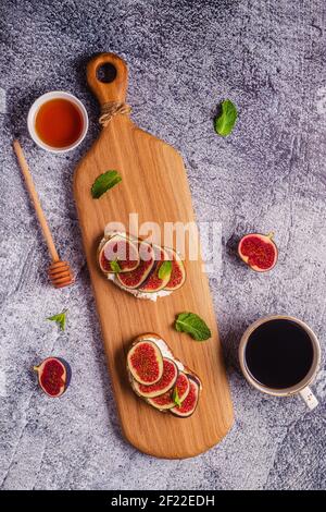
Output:
M1 2L0 483L3 489L322 489L326 487L326 369L319 407L259 394L237 363L243 329L261 315L306 320L325 345L325 11L323 0ZM121 437L72 199L73 170L97 135L85 63L111 50L129 63L129 102L142 129L184 155L199 220L221 221L223 267L212 279L236 423L190 461L142 455ZM90 130L68 156L38 149L26 133L32 101L75 93ZM234 134L212 130L217 102L239 108ZM62 255L78 277L58 293L13 157L21 135ZM275 230L275 271L250 272L237 237ZM70 308L65 333L45 317ZM66 357L74 383L48 400L29 368ZM325 359L324 359L325 361ZM325 363L324 363L325 365Z

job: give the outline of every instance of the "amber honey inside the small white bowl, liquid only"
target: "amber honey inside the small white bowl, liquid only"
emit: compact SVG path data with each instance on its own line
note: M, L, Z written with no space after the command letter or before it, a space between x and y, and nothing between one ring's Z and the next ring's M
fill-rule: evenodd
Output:
M50 99L36 113L35 131L45 144L53 148L62 149L75 144L83 127L83 114L68 99Z

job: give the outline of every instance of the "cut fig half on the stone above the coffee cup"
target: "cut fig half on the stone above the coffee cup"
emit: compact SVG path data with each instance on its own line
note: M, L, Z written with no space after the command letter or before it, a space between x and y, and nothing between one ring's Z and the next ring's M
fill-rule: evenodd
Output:
M274 233L267 235L250 233L240 240L238 254L252 270L266 272L275 267L278 249L273 236Z

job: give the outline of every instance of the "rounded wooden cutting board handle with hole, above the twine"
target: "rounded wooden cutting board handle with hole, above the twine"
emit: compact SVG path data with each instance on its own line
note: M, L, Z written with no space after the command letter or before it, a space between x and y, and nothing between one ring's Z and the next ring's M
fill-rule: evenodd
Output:
M105 70L110 72L112 77L110 82L104 82L99 78L101 68L104 72ZM126 62L115 53L99 53L93 57L87 64L86 74L88 85L101 106L108 101L125 101L128 69Z

